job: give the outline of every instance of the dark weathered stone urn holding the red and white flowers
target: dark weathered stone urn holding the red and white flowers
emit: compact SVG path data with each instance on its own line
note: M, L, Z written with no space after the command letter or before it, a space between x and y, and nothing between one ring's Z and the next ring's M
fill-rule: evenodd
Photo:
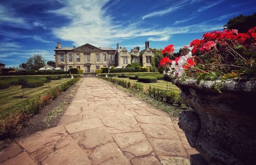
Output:
M179 126L191 147L191 165L256 165L256 80L222 83L174 80L193 111L182 112Z

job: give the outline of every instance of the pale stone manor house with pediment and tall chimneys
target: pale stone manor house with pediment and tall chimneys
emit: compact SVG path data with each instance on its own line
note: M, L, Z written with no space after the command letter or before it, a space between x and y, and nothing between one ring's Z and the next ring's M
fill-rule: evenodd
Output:
M127 64L131 64L131 58L133 57L133 63L140 63L143 66L151 66L151 57L154 56L153 52L149 48L149 42L145 42L145 49L142 54L142 61L140 59L140 47L131 49L129 52L125 47L119 47L116 44L116 49L106 47L95 47L89 43L86 43L80 47L61 47L60 43L57 43L55 51L55 67L59 67L64 71L68 71L70 68L82 69L83 73L92 73L96 69L101 67L120 66L126 67Z

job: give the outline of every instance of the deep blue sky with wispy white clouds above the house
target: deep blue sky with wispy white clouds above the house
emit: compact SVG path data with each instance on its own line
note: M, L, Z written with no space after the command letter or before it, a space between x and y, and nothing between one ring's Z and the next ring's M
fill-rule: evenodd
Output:
M178 51L254 12L255 0L1 0L0 62L17 67L33 54L54 60L56 42L142 50L149 41L151 48L174 44Z

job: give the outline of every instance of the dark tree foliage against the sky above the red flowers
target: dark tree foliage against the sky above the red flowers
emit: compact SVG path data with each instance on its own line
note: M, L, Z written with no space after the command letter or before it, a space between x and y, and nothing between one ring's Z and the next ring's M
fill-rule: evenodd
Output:
M238 32L247 32L252 27L256 27L256 12L251 16L240 15L229 19L224 26L227 29L237 29Z

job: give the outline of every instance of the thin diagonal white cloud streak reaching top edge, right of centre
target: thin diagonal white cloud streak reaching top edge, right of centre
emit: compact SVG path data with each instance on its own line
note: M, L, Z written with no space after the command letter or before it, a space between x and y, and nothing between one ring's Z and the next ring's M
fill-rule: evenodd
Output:
M154 12L151 12L151 13L148 13L147 15L145 16L142 16L142 20L144 20L145 18L150 18L150 17L153 17L153 16L162 16L164 14L167 14L167 13L170 13L170 12L173 12L173 11L176 11L182 7L184 7L187 3L187 0L184 0L182 1L181 3L179 4L176 4L176 5L172 5L170 6L169 8L167 9L164 9L164 10L161 10L161 11L154 11Z

